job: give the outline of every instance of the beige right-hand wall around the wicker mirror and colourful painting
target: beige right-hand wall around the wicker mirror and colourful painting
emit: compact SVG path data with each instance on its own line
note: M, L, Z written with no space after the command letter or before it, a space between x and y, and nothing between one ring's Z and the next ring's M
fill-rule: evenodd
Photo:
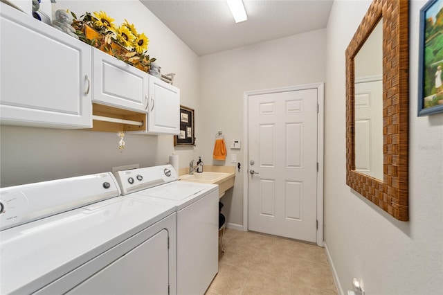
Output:
M409 204L398 222L345 184L345 49L370 1L334 1L327 25L325 241L341 292L441 294L443 114L417 117L419 9L410 1ZM343 21L346 19L346 21Z

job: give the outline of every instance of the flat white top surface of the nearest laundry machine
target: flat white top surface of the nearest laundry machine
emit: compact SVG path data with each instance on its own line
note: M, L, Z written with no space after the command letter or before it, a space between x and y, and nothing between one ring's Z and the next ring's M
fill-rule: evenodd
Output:
M172 213L114 197L1 231L1 293L33 293Z

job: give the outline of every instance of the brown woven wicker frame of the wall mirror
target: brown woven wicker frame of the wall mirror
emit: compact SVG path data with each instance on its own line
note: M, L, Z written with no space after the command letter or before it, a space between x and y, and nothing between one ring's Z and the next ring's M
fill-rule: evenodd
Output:
M354 57L383 19L383 179L356 170ZM408 220L408 1L374 0L346 49L346 184Z

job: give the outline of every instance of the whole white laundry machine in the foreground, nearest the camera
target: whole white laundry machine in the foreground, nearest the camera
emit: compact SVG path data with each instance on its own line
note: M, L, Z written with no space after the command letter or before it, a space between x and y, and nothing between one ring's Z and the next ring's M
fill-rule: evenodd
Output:
M110 172L0 189L1 294L175 294L174 206Z

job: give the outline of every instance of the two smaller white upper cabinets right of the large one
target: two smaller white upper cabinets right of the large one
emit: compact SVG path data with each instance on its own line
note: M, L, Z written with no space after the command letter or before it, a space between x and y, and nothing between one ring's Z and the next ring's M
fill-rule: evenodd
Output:
M179 134L180 89L93 49L93 97L96 104L147 113L143 134Z

